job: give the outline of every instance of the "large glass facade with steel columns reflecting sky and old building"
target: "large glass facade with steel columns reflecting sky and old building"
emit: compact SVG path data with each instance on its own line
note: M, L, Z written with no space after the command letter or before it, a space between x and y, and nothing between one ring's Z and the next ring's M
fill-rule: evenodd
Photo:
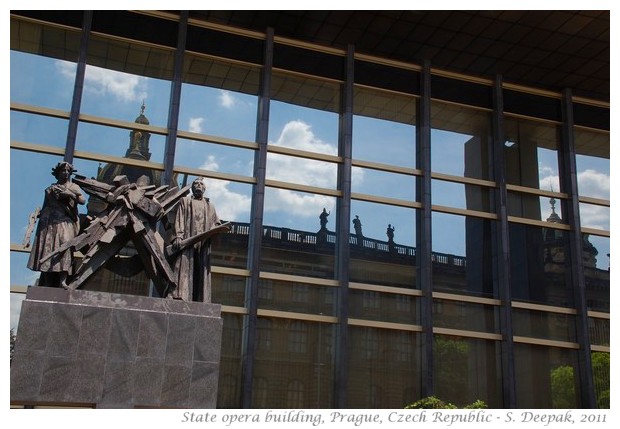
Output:
M15 12L10 55L12 329L57 162L205 177L233 225L219 408L609 407L609 123L583 100L494 110L491 81L164 12ZM85 288L156 296L107 266Z

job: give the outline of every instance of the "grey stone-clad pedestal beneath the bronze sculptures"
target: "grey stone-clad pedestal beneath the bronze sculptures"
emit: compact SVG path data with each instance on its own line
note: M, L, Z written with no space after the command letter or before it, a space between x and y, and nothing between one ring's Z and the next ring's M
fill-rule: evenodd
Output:
M11 403L215 408L219 304L31 287Z

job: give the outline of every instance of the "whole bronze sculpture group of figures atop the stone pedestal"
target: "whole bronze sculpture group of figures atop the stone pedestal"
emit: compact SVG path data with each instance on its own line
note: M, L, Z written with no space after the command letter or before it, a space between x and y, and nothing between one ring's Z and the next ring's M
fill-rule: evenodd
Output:
M57 182L45 190L28 261L28 268L41 272L39 285L78 289L131 240L161 297L211 302L211 238L230 225L204 196L202 179L179 189L129 183L126 176L112 184L77 175L71 181L74 172L70 163L58 163L52 170ZM107 209L80 232L82 191L105 201ZM166 245L158 226L168 214L175 220ZM79 264L76 251L84 254Z

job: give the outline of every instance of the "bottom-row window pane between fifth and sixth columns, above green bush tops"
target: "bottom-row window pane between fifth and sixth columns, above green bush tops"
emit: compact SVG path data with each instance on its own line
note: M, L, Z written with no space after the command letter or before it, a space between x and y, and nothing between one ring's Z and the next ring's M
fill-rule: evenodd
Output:
M476 400L502 408L498 341L435 335L433 364L438 398L463 408Z

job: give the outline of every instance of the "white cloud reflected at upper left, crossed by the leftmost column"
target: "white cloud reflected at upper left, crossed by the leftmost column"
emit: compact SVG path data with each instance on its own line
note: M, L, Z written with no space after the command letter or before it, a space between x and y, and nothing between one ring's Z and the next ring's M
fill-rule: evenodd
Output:
M57 61L56 68L68 79L75 78L75 64ZM84 76L86 91L113 95L120 101L142 101L147 98L147 78L100 67L88 66Z

